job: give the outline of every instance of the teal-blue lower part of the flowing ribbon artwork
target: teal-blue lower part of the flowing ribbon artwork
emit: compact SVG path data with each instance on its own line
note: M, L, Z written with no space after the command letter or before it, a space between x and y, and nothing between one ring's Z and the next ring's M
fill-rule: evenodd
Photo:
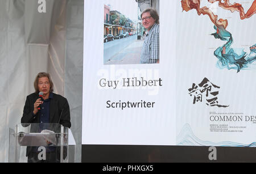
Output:
M250 54L246 54L243 49L233 49L230 46L233 43L232 34L224 27L217 28L216 33L212 35L215 39L220 39L222 41L227 41L227 43L219 48L217 48L214 52L214 56L218 58L217 67L220 69L224 69L225 67L230 69L237 69L237 73L240 72L241 69L245 69L248 65L256 60L255 56L255 45L250 47Z

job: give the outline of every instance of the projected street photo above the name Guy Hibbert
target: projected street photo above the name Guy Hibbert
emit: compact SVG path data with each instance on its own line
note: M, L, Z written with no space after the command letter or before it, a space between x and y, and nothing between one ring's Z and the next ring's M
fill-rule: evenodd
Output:
M104 65L159 63L159 11L139 3L104 1Z

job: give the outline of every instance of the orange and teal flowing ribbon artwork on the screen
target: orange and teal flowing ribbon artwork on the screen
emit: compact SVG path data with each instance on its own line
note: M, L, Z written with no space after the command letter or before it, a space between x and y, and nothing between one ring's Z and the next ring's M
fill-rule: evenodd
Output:
M239 12L241 20L250 18L256 13L256 0L253 1L246 13L241 4L231 4L229 0L224 0L224 2L221 0L208 0L208 2L218 2L218 6L222 9L229 10L231 12ZM215 37L215 39L226 41L224 45L220 46L214 51L214 56L216 56L219 60L217 66L220 69L236 69L237 73L239 73L241 69L245 69L250 63L256 60L256 44L250 47L250 53L246 53L243 48L231 48L234 40L232 34L226 30L228 27L227 19L218 19L218 16L214 15L214 13L208 7L200 8L200 0L182 0L181 6L186 12L195 9L198 15L208 15L214 24L214 29L216 29L216 33L213 33L212 35Z

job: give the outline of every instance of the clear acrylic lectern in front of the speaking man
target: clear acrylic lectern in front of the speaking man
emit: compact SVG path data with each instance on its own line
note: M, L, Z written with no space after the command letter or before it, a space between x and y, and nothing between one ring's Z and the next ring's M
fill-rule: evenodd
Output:
M71 131L60 124L18 124L9 131L9 162L67 163L69 134Z

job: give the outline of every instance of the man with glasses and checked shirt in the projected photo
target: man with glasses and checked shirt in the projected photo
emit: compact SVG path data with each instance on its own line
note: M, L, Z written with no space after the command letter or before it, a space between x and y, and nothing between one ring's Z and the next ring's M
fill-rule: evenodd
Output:
M147 29L142 46L141 63L159 63L159 15L155 9L146 9L141 14L142 24Z

